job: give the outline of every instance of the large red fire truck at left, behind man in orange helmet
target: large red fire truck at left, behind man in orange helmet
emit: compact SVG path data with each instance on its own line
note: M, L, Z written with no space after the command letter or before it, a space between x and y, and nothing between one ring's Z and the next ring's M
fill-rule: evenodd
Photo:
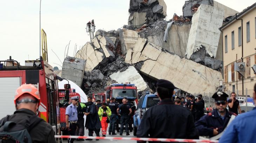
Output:
M6 63L13 63L12 66ZM15 90L22 84L33 84L38 88L41 97L38 115L48 122L55 132L61 135L58 77L53 73L53 68L42 60L25 61L25 66L20 66L18 61L0 61L0 91L4 97L0 100L0 118L11 115L15 111L13 103ZM70 85L66 85L66 88ZM66 95L65 99L68 98ZM56 138L57 142L62 142Z

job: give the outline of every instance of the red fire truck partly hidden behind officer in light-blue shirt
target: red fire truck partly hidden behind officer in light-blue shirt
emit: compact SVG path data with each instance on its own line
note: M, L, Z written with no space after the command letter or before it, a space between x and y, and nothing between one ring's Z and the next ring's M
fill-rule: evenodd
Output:
M65 94L69 92L69 101L65 101ZM63 135L67 135L66 130L66 108L71 103L71 97L79 96L79 93L75 92L75 89L59 89L59 100L60 100L60 126ZM79 102L81 99L79 98Z

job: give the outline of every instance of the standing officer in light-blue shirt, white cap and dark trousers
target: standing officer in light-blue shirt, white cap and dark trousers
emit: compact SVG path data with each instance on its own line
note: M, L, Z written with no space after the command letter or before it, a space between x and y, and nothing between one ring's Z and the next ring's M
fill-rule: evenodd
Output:
M77 121L78 121L78 111L76 109L76 104L78 102L79 96L71 97L72 103L66 108L66 128L68 129L69 135L75 135ZM73 143L74 138L68 138L68 143Z

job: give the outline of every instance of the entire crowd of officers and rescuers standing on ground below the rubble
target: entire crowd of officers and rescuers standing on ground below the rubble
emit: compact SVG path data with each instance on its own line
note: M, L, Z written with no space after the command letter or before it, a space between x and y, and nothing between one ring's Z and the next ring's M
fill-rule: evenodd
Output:
M173 100L175 89L173 83L158 80L156 85L160 102L143 114L137 137L199 139L199 136L209 136L210 140L219 140L219 143L242 143L256 140L256 137L252 135L256 130L256 122L253 122L256 117L256 108L242 113L234 92L231 93L229 100L225 92L214 93L212 98L215 100L215 107L212 112L204 115L202 95L198 95L196 101L193 96L186 97L187 101L180 97ZM256 84L253 96L256 102L255 93ZM25 137L28 142L54 143L52 127L36 115L40 100L39 91L34 85L21 85L14 97L16 111L13 115L7 115L0 120L0 136L2 133L14 131L10 134L15 133L13 136L19 139ZM66 108L66 128L69 135L85 135L84 115L86 115L85 127L88 129L89 136L93 136L94 132L96 136L100 136L100 129L102 136L106 136L108 123L110 124L109 135L116 135L118 118L121 123L120 135L123 134L124 126L126 135L129 135L128 124L132 109L126 98L123 98L121 105L115 102L115 98L102 104L99 101L95 104L92 97L88 97L87 103L79 103L79 96L74 96L71 100L72 103ZM238 112L240 115L237 115ZM17 130L19 132L15 132ZM73 143L74 139L69 138L68 142Z

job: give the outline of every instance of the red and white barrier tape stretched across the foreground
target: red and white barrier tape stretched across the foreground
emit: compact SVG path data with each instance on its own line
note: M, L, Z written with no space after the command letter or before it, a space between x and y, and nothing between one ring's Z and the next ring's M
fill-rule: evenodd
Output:
M79 139L100 139L100 140L135 140L135 141L158 141L158 142L203 142L217 143L217 140L193 140L193 139L173 139L173 138L137 138L137 137L95 137L95 136L61 136L55 135L55 138L79 138Z

